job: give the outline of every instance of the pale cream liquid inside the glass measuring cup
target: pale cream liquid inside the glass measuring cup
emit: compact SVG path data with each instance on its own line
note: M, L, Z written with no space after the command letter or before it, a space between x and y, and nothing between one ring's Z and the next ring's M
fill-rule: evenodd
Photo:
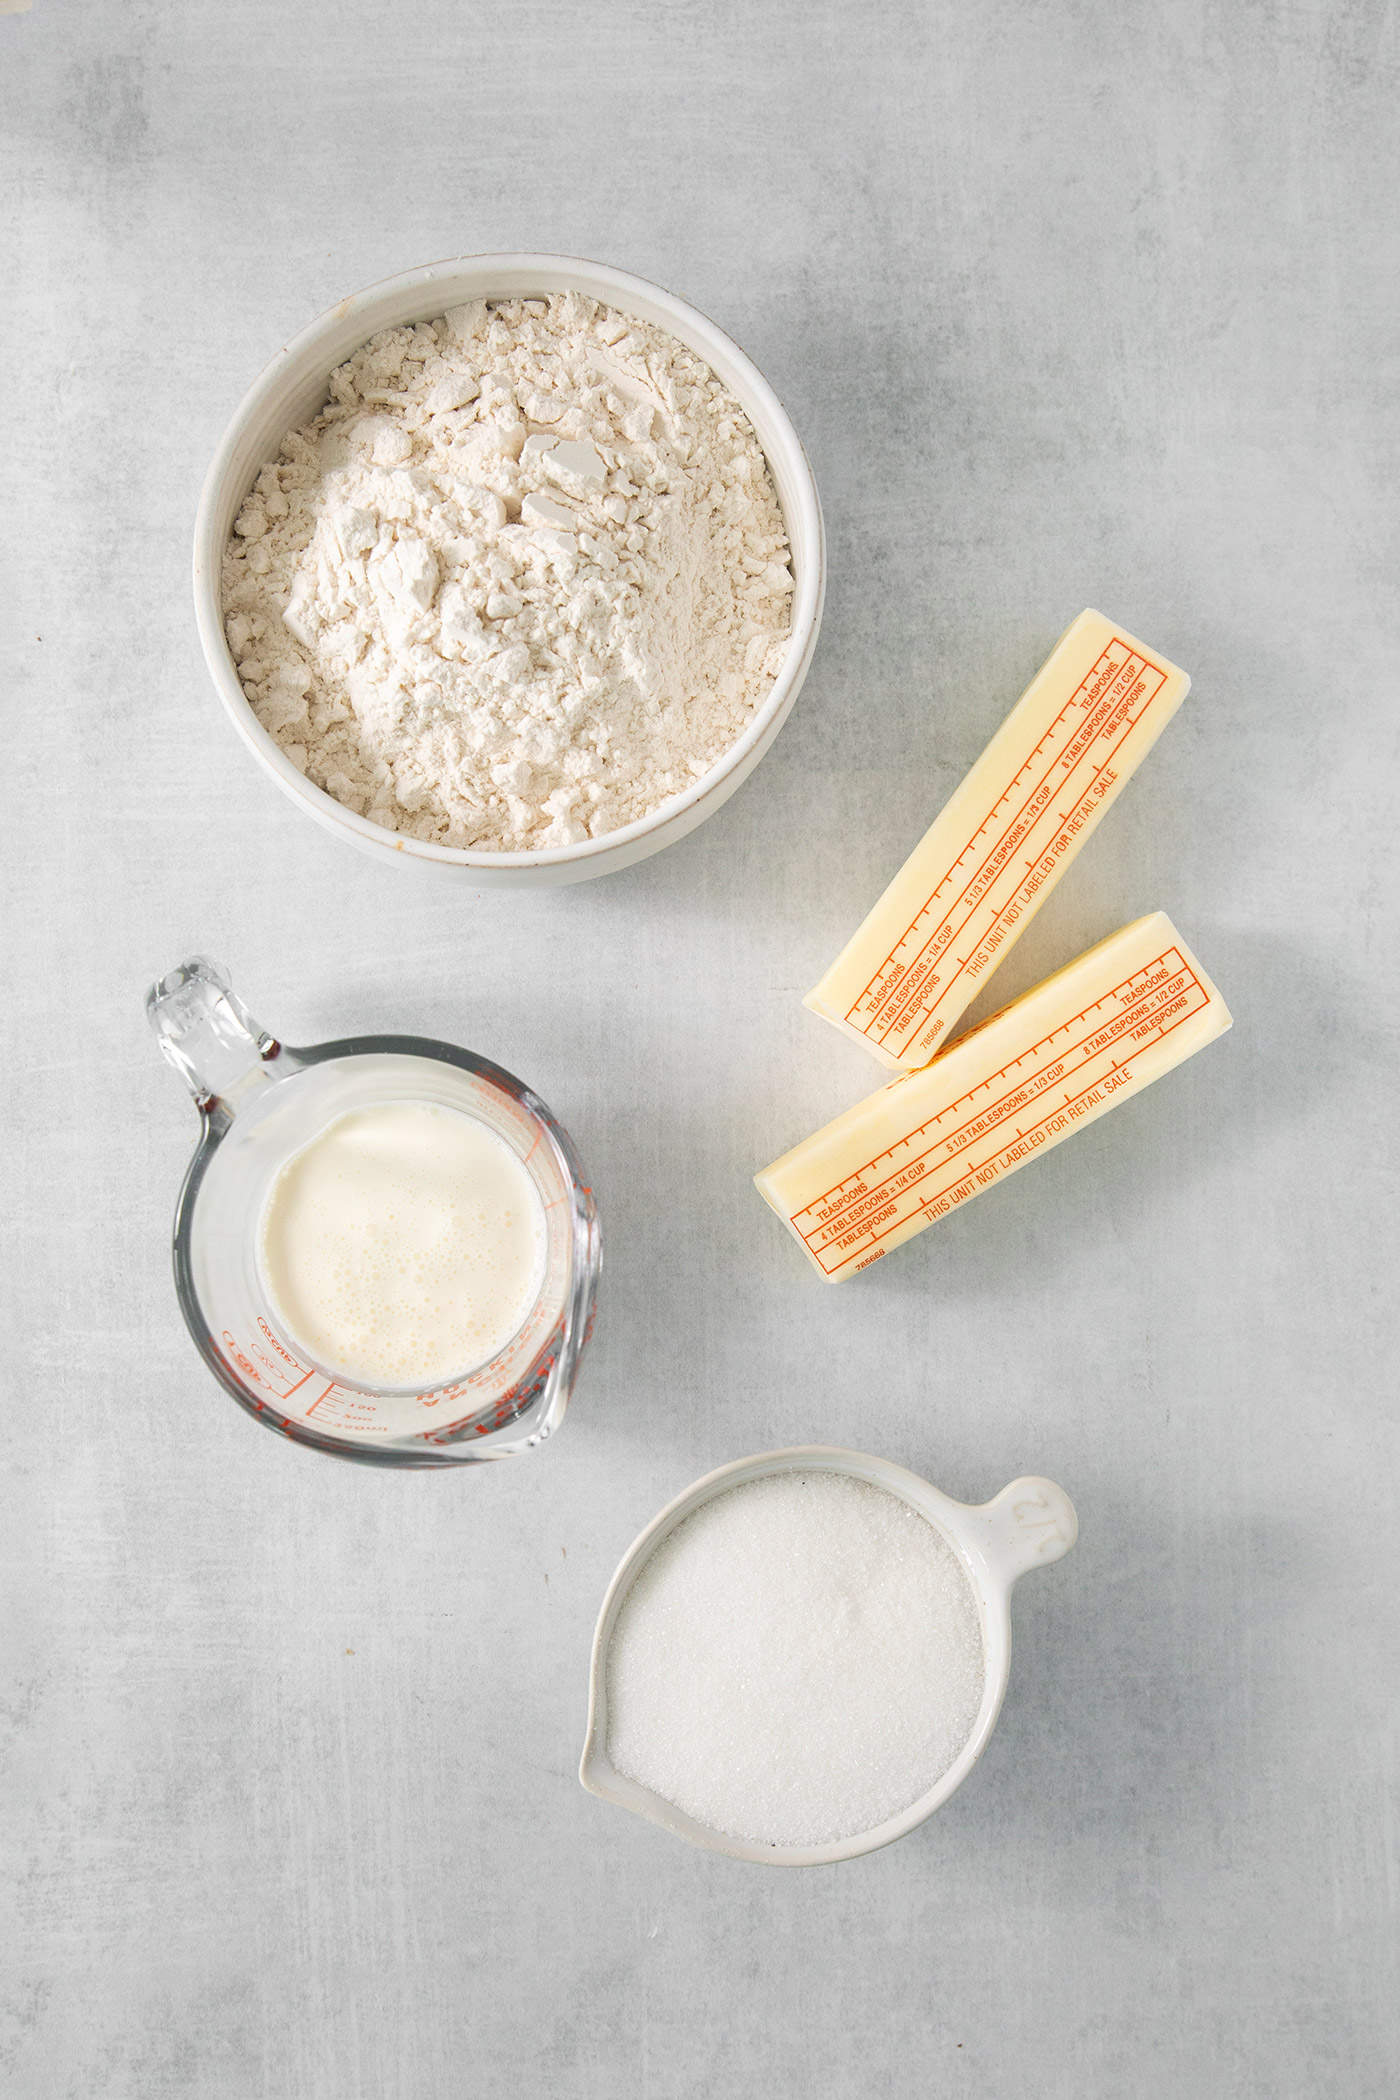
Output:
M258 1235L292 1342L365 1386L489 1363L539 1296L539 1191L474 1115L384 1100L327 1124L277 1174Z

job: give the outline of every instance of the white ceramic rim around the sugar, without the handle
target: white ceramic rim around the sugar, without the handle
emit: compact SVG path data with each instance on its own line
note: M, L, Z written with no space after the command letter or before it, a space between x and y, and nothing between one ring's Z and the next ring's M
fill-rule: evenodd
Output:
M959 1556L972 1583L982 1628L982 1655L987 1667L982 1705L961 1754L928 1789L928 1793L921 1793L919 1800L909 1804L909 1808L903 1808L896 1816L890 1816L875 1829L858 1831L854 1838L842 1838L835 1844L825 1846L758 1846L743 1838L730 1838L726 1831L716 1831L707 1823L697 1823L695 1816L688 1816L682 1808L676 1808L674 1802L663 1800L663 1796L653 1793L651 1787L642 1787L636 1779L628 1779L609 1762L607 1756L607 1653L613 1640L613 1628L617 1625L617 1615L628 1592L632 1590L632 1583L661 1541L670 1537L676 1525L684 1522L686 1516L699 1510L705 1502L712 1502L716 1495L728 1493L730 1487L741 1487L745 1480L758 1480L772 1472L844 1472L856 1480L869 1480L873 1487L884 1487L888 1493L898 1495L913 1510L917 1510L919 1516L928 1518L928 1522L934 1525L934 1529ZM588 1735L579 1764L581 1783L600 1800L613 1802L617 1808L630 1808L632 1814L644 1816L649 1823L659 1823L663 1829L672 1831L676 1838L684 1838L688 1844L703 1846L709 1852L726 1852L730 1858L747 1858L770 1867L829 1867L837 1861L858 1858L863 1852L877 1852L879 1846L903 1838L905 1831L911 1831L917 1823L924 1823L926 1816L940 1808L942 1802L947 1802L949 1796L963 1783L987 1747L1005 1697L1005 1684L1012 1667L1012 1617L1007 1609L1010 1581L1005 1562L999 1554L995 1554L995 1550L989 1550L987 1527L978 1522L978 1518L980 1512L976 1508L963 1502L953 1502L949 1495L940 1493L940 1489L921 1480L917 1472L907 1472L903 1466L892 1466L888 1460L871 1457L867 1451L842 1451L833 1445L800 1445L787 1451L764 1451L758 1457L735 1460L733 1466L720 1466L718 1472L705 1474L703 1480L697 1480L684 1491L684 1495L678 1495L676 1502L667 1504L667 1508L661 1510L661 1514L653 1518L653 1522L628 1548L602 1600L594 1634L588 1686Z

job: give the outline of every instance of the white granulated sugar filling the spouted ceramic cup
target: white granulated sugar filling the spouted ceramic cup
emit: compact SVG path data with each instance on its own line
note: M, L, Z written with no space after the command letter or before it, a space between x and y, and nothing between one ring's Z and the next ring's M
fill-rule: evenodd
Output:
M695 1510L623 1600L607 1661L619 1772L749 1844L898 1814L982 1703L972 1583L909 1504L779 1472Z

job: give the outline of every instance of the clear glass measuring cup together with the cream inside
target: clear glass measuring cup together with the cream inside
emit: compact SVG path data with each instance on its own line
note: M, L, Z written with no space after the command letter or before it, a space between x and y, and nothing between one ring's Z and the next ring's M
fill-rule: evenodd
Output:
M147 1010L199 1109L176 1296L239 1407L372 1466L544 1443L592 1331L600 1247L539 1096L420 1035L283 1044L199 958Z

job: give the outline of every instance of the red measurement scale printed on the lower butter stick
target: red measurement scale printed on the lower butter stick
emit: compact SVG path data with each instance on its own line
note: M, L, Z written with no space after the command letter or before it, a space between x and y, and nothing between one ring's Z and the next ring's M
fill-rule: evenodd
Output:
M989 1073L970 1092L951 1100L938 1115L917 1124L894 1144L867 1159L865 1166L804 1203L791 1218L796 1231L827 1275L835 1275L850 1262L865 1266L873 1260L879 1243L903 1231L919 1212L942 1201L951 1208L951 1203L963 1201L974 1186L991 1186L1024 1157L1022 1151L1016 1159L1007 1159L1012 1149L1035 1140L1037 1132L1054 1124L1056 1117L1070 1115L1096 1088L1110 1086L1119 1073L1129 1071L1144 1044L1125 1044L1123 1037L1142 1037L1144 1031L1150 1031L1152 1044L1165 1042L1207 1006L1209 995L1182 951L1178 947L1165 949L999 1071ZM1087 1029L1085 1023L1089 1023ZM1094 1063L1112 1048L1123 1048L1125 1054L1110 1056L1106 1069L1085 1077ZM1018 1073L1020 1077L1016 1077ZM1064 1082L1075 1077L1085 1077L1085 1084L1070 1092ZM997 1088L1001 1090L997 1092ZM1052 1090L1054 1098L1049 1098ZM1045 1111L1033 1121L1020 1124L1022 1111L1039 1100L1047 1102ZM1012 1119L1018 1121L1014 1134L1007 1136L1005 1126ZM924 1149L915 1149L921 1138L928 1142ZM980 1138L993 1138L993 1144L974 1155ZM898 1163L896 1155L900 1155ZM875 1174L884 1161L888 1161L888 1170ZM938 1166L951 1168L951 1178L934 1182ZM827 1260L829 1254L835 1254L837 1260Z

